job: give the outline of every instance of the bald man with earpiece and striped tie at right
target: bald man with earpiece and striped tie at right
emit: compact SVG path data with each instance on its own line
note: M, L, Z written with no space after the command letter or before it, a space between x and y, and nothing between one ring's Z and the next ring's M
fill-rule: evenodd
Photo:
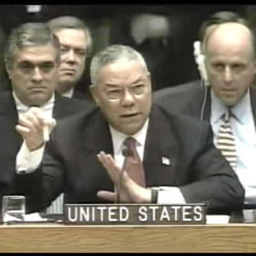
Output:
M225 22L212 27L202 42L210 86L183 90L158 101L168 110L175 109L209 121L214 132L214 144L219 149L223 117L225 113L230 114L234 147L227 148L226 153L220 150L223 155L235 152L233 169L245 188L245 204L256 204L256 90L252 86L256 70L254 41L245 21ZM174 106L177 103L179 107ZM250 213L244 211L245 221L253 220Z

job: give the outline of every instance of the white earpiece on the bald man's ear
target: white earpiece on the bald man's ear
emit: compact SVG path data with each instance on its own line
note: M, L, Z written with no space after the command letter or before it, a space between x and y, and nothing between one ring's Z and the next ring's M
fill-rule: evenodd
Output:
M209 81L208 81L207 71L206 71L205 63L204 63L205 57L204 57L204 54L202 54L202 52L201 52L201 42L200 41L194 42L194 57L195 57L195 61L198 66L200 76L203 80L203 84L205 86L208 86Z

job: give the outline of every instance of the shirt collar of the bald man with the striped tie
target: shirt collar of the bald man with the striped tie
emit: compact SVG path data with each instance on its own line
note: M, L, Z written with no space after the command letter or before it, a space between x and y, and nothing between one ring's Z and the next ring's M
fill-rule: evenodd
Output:
M235 107L231 108L231 110L238 122L246 122L247 113L250 113L251 111L250 90L247 90L244 97L237 103ZM213 123L218 122L221 116L227 111L227 107L217 97L213 90L211 90L211 111Z

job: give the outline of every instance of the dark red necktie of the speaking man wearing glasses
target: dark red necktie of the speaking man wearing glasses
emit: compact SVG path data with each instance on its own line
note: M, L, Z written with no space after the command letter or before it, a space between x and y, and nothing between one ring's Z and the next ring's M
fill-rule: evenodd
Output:
M128 137L124 140L124 164L123 170L129 174L129 177L139 186L146 187L145 172L139 154L136 150L135 139Z

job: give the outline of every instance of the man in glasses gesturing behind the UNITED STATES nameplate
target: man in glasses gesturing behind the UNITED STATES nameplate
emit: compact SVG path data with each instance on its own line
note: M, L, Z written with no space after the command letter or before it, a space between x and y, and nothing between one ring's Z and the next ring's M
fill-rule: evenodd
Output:
M31 164L17 161L16 189L27 195L28 211L41 210L62 191L66 203L119 198L135 203L206 203L210 209L241 206L242 186L213 146L209 125L151 105L150 75L137 51L108 46L93 58L91 79L99 108L59 122L46 145L43 165L42 126L52 126L53 120L30 111L17 127L25 138L27 157L38 154ZM135 155L122 154L131 137L137 160L143 161L144 185L138 185L128 169L122 171L126 156Z

